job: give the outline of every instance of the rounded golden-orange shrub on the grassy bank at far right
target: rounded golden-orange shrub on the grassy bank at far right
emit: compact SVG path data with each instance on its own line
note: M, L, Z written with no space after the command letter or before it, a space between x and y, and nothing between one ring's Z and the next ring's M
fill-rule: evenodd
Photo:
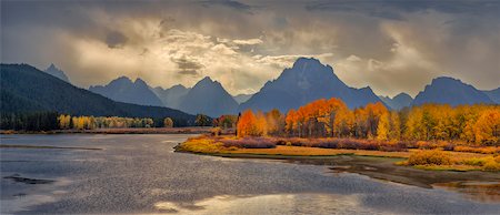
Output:
M409 165L451 165L451 156L442 151L419 151L414 152L408 158Z

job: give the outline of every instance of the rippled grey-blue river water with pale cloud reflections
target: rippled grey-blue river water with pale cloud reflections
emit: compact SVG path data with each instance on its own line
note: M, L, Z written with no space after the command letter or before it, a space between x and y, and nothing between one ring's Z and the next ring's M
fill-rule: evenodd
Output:
M328 166L174 153L189 135L7 135L1 214L498 214L500 203L331 173ZM16 175L17 174L17 175ZM14 176L12 180L6 176ZM21 182L22 178L31 181ZM32 180L52 183L29 184Z

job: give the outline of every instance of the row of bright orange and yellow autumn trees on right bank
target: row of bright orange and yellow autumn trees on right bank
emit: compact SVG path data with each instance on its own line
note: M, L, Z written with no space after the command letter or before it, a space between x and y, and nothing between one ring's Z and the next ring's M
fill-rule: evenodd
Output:
M237 135L353 137L381 141L460 141L500 145L500 105L424 104L401 111L382 103L350 110L339 99L321 99L290 110L244 111Z

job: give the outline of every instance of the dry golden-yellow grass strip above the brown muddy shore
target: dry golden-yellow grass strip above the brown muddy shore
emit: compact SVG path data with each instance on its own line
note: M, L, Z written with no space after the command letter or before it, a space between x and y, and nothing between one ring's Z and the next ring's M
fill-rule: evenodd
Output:
M290 142L278 143L282 139L236 139L233 136L192 137L180 144L177 150L208 154L254 154L254 155L284 155L284 156L334 156L359 155L381 157L403 157L407 161L400 165L410 165L417 168L434 171L500 171L500 155L472 153L479 151L454 152L434 150L410 149L406 152L387 152L376 150L326 149L311 146L297 146ZM303 142L302 142L303 143ZM313 143L308 141L308 143ZM317 142L314 142L317 143ZM297 142L294 143L297 144ZM301 145L301 144L300 144Z

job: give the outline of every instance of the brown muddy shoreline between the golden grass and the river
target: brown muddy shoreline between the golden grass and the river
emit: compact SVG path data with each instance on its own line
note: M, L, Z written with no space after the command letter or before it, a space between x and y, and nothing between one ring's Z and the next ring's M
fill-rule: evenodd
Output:
M200 153L178 151L176 153L189 153L204 156L218 156L226 158L254 158L271 160L278 162L323 165L331 173L354 173L374 180L388 181L423 188L434 186L448 186L457 182L499 182L500 174L483 171L430 171L411 166L396 165L396 162L404 161L404 157L377 156L377 155L270 155L270 154L231 154L231 153Z

